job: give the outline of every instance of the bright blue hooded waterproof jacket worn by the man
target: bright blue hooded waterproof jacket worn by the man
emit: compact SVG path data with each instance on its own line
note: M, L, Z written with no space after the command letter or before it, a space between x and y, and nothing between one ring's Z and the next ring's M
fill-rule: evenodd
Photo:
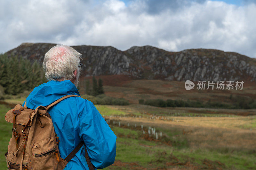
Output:
M71 81L48 81L35 87L30 93L27 97L27 107L36 109L40 105L47 106L70 94L80 96ZM24 104L25 102L23 106ZM69 97L52 106L48 112L52 117L55 132L60 137L61 158L66 158L78 143L84 141L93 166L101 169L114 163L116 135L91 101ZM84 155L83 146L65 169L89 169Z

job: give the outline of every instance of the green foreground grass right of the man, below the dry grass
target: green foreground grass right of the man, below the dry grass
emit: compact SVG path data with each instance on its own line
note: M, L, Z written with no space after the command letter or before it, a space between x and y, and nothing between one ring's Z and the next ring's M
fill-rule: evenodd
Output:
M105 169L254 169L255 153L214 147L193 148L188 136L176 129L167 139L172 145L150 141L141 131L110 126L117 139L115 164ZM175 137L175 138L174 138ZM151 139L152 140L152 139ZM166 139L165 139L166 140Z

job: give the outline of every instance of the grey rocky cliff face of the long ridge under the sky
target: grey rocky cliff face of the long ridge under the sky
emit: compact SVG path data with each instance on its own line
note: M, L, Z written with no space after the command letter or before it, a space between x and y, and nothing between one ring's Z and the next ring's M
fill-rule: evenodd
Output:
M55 44L23 43L8 56L37 60ZM84 76L125 74L134 79L256 81L256 60L233 52L190 49L169 52L152 46L121 51L114 47L73 46L82 54Z

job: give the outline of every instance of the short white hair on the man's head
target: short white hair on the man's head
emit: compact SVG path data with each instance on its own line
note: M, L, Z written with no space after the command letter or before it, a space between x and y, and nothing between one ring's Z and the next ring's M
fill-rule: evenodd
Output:
M72 47L57 44L44 55L43 68L48 81L63 79L74 80L78 84L78 77L81 73L79 68L81 54ZM77 70L75 77L74 71Z

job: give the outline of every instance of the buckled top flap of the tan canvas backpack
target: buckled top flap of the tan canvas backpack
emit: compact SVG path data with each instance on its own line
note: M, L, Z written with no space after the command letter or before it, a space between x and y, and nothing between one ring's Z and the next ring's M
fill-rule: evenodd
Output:
M29 116L31 114L31 118L30 118L30 123L28 124L28 126L32 125L32 120L34 115L36 114L36 112L34 112L34 110L32 109L22 109L23 107L20 104L17 104L13 109L9 110L6 114L5 114L5 120L12 123L13 122L13 117L16 115L15 118L15 124L20 124L20 125L26 125L28 123L29 120ZM21 111L20 111L21 110Z

